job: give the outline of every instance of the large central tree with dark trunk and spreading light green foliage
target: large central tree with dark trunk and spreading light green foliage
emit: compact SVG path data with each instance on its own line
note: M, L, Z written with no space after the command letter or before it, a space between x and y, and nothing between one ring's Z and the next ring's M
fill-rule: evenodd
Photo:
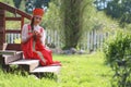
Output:
M36 1L37 7L43 8L43 3L38 0L27 1L33 1L32 8L36 5L34 4ZM50 0L41 25L45 29L60 32L60 39L64 49L78 48L81 41L86 40L85 33L87 30L111 29L117 26L103 12L95 10L93 0Z

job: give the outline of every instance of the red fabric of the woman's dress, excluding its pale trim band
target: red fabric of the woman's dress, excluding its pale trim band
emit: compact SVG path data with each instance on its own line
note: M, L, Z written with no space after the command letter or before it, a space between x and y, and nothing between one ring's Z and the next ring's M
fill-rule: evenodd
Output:
M28 29L29 29L29 26L28 26ZM32 35L32 33L28 33L28 35ZM22 50L23 50L25 59L37 59L37 60L39 60L40 65L51 65L51 64L61 65L60 62L52 61L51 51L47 50L41 45L39 38L37 38L35 40L36 44L35 44L35 51L34 51L33 50L33 41L34 41L34 39L31 38L31 39L28 39L27 42L22 44ZM36 51L39 51L43 54L44 59L46 60L46 63L43 61L43 59L38 55L38 53Z

